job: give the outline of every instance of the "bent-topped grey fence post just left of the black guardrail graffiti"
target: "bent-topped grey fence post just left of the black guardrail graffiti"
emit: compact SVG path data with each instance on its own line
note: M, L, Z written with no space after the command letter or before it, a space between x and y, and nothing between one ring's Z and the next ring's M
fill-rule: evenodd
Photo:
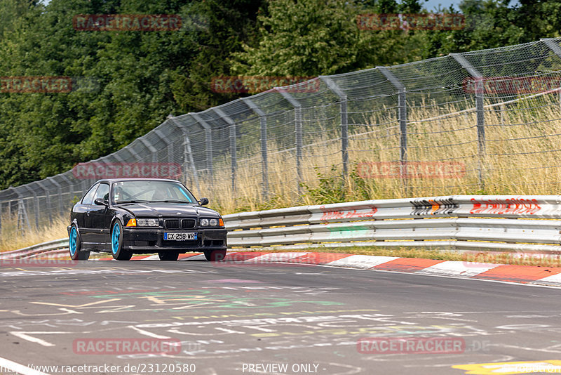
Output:
M403 183L403 192L409 195L409 182L407 178L407 93L405 86L387 67L377 67L381 74L390 81L398 91L398 121L400 133L400 176Z

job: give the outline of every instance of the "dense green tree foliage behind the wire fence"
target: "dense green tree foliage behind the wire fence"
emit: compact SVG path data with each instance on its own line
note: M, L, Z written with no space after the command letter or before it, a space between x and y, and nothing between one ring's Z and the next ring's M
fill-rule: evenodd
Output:
M336 74L560 36L557 0L464 0L454 31L362 30L361 13L422 0L0 0L0 77L74 77L69 93L0 90L0 188L127 145L168 114L227 103L213 77ZM175 32L74 29L79 14L177 14ZM242 94L245 95L245 94Z

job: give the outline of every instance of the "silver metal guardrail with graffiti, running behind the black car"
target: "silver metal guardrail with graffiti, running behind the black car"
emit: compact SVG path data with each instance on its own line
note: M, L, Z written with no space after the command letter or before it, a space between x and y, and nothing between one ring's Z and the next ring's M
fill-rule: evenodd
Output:
M229 247L423 246L561 254L561 196L451 195L379 199L224 216ZM63 253L68 239L0 253ZM278 247L277 247L278 246Z

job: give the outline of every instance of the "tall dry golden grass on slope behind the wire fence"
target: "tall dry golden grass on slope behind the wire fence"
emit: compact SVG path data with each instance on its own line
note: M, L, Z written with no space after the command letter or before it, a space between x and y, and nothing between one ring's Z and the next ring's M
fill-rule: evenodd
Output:
M454 107L440 113L452 113ZM514 105L485 110L485 153L478 153L475 112L440 119L431 107L410 110L407 157L412 162L453 162L464 166L459 176L444 178L365 178L347 176L342 190L346 201L435 195L556 195L561 181L561 107L557 96L520 100ZM374 119L370 119L374 123ZM397 122L362 126L349 136L349 170L360 162L398 162L400 140ZM322 177L342 174L339 140L318 138L304 146L302 182L310 188ZM270 150L275 145L269 146ZM238 162L235 188L229 162L215 180L201 181L203 195L222 213L269 209L296 204L317 204L297 184L294 150L269 153L269 195L262 194L262 164L255 157ZM480 183L479 176L482 176Z

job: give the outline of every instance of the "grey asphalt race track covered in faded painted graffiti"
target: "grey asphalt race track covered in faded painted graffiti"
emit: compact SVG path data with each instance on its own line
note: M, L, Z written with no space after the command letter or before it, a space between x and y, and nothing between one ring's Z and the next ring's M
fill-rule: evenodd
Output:
M0 289L3 374L561 372L551 287L191 258L2 267Z

